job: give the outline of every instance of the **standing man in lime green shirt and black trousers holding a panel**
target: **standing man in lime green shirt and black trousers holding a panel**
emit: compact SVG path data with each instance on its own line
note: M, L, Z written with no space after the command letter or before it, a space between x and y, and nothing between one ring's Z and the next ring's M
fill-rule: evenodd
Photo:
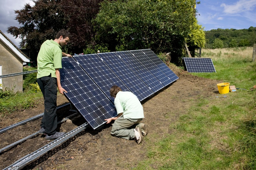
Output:
M65 30L60 30L55 40L46 40L40 47L37 56L37 82L44 96L44 116L41 121L39 134L46 134L46 139L57 139L65 132L57 132L57 87L59 93L67 91L61 87L60 72L62 68L62 55L72 57L62 53L60 46L67 45L71 34Z

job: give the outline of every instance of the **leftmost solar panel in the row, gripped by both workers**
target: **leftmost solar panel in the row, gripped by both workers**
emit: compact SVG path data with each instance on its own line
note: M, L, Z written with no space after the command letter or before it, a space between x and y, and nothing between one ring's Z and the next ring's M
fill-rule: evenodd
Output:
M60 79L61 86L68 92L64 95L93 129L104 124L104 119L117 115L115 106L73 57L62 58Z

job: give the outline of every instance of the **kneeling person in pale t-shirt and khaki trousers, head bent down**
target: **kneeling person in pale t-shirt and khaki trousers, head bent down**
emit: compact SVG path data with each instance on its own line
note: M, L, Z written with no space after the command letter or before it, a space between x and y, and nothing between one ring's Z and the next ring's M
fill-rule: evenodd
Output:
M112 86L110 95L114 97L114 104L117 117L104 119L107 124L112 120L111 135L124 138L134 139L138 144L143 140L143 136L148 133L148 127L144 123L140 123L144 118L143 107L138 98L129 91L122 91L118 86Z

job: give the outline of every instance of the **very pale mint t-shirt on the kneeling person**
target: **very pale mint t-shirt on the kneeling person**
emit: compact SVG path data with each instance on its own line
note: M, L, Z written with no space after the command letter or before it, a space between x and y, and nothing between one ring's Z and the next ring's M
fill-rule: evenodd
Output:
M123 117L126 119L144 118L143 107L132 92L119 91L116 94L114 104L117 114L123 113Z

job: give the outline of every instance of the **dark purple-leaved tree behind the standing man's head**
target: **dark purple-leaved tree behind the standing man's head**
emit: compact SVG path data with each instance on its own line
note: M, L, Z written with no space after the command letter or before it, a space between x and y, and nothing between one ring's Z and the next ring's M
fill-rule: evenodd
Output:
M99 11L102 0L34 0L34 6L25 4L23 9L15 10L16 20L21 27L8 27L7 32L22 39L20 47L30 49L36 60L41 44L54 39L61 29L72 34L65 52L82 53L84 47L95 36L91 20Z

